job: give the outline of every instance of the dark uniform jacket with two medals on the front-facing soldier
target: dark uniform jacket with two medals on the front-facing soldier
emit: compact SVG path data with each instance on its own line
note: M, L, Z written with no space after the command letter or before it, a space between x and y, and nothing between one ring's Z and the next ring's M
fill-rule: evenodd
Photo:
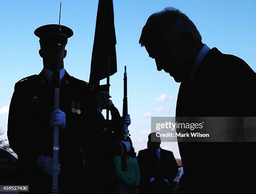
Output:
M59 190L79 193L83 156L81 145L101 131L102 117L91 87L65 72L60 84L60 110L66 126L59 130ZM16 184L30 186L31 193L51 193L52 176L36 165L39 156L53 157L53 133L49 116L53 111L54 87L44 74L30 76L15 84L8 118L10 147L18 154ZM81 113L73 113L79 108ZM98 131L97 131L98 130Z

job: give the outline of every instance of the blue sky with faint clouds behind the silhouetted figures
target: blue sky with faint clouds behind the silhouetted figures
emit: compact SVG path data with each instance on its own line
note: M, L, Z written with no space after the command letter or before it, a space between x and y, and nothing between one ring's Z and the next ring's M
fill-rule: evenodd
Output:
M85 81L90 76L97 3L62 0L61 24L74 31L66 47L64 66L69 74ZM154 60L138 44L149 15L167 6L178 8L195 23L203 43L237 55L256 71L255 0L113 0L113 4L118 73L110 78L110 95L121 112L126 65L128 112L132 119L129 129L137 152L146 148L151 116L175 116L179 89L179 83L169 74L156 71ZM59 0L2 1L0 10L0 127L6 131L15 82L43 68L38 38L33 32L41 25L58 23ZM6 138L6 134L0 138ZM177 143L163 142L161 146L180 158Z

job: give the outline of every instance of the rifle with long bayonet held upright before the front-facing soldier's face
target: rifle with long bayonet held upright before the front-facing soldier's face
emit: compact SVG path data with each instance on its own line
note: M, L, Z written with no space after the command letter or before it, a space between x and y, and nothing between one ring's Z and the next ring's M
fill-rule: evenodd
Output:
M60 49L61 49L61 25L60 25L60 16L61 16L61 3L59 10L59 28L57 28L58 41L58 63L54 71L54 110L59 109L59 93L60 93L60 84L59 84L59 67L60 67ZM59 181L59 126L55 126L53 129L53 168L52 168L52 189L51 192L56 194L59 192L58 181Z

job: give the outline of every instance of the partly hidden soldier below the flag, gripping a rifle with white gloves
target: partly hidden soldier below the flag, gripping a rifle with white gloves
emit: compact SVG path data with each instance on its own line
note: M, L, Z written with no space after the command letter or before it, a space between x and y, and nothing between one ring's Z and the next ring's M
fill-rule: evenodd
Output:
M125 121L129 126L131 124L130 115L127 114L125 118L120 116L118 109L109 99L111 96L105 86L93 87L93 93L97 99L100 114L102 114L102 110L107 109L111 113L111 119L105 119L102 114L103 120L101 120L100 126L104 126L103 130L92 137L89 144L83 144L84 150L90 149L90 153L87 153L87 164L85 164L89 172L86 181L87 190L89 193L95 194L113 193L118 186L113 156L122 156L131 149L131 143L123 141L121 138L123 129L121 122Z

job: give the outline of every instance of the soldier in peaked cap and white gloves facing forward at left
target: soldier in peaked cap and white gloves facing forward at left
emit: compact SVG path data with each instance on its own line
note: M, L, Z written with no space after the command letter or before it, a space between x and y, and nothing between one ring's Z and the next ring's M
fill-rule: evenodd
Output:
M60 194L82 193L84 161L81 142L92 141L93 132L102 130L98 124L102 123L98 122L102 120L102 115L92 98L92 87L70 76L64 69L65 46L73 31L61 25L61 51L58 51L57 28L59 25L50 24L35 30L35 35L40 38L39 55L43 58L44 68L38 75L15 83L8 118L10 147L18 154L15 184L29 185L30 193L36 194L51 193L52 127L59 126ZM52 75L58 63L58 54L60 108L54 110Z

